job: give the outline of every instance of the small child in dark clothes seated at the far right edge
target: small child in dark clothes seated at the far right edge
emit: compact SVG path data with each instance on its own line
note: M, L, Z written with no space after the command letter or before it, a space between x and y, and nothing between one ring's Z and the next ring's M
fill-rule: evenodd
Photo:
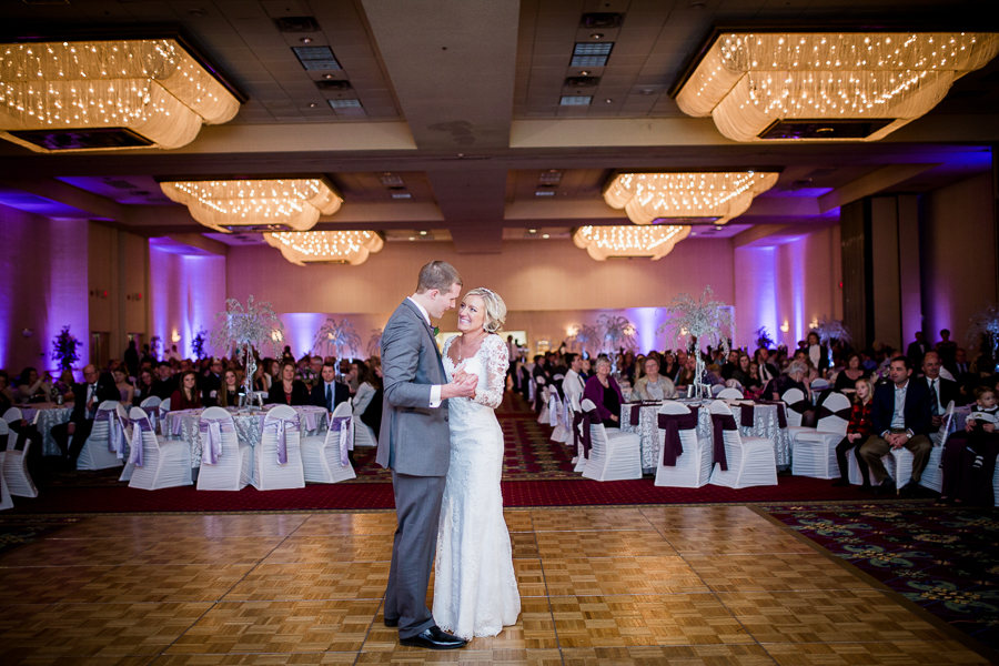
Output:
M956 433L944 447L944 488L940 500L992 506L992 475L999 455L999 406L996 390L979 386L975 390L976 404L965 425L963 433Z

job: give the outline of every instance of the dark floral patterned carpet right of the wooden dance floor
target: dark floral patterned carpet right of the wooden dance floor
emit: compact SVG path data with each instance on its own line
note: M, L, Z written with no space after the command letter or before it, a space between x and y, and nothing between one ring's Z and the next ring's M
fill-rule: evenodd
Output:
M999 512L931 502L760 508L999 650Z

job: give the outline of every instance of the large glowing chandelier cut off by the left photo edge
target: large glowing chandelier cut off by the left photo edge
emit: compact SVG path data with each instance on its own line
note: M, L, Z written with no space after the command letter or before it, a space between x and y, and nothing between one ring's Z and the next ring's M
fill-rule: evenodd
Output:
M0 44L0 137L36 152L190 143L245 98L182 41Z

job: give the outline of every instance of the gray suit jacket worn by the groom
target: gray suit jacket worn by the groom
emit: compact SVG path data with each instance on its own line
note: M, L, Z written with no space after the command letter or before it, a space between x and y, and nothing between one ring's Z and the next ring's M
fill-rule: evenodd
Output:
M430 407L431 386L446 384L441 352L408 299L382 332L384 394L377 462L412 476L444 476L451 464L447 401Z

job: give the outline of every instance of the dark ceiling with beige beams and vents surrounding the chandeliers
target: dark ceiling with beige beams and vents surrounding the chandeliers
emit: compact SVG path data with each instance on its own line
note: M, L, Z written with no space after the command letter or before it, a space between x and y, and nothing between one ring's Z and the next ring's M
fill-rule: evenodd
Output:
M904 17L983 29L991 8L992 0L0 0L13 34L38 24L180 23L249 98L233 121L173 151L37 154L0 142L0 204L169 235L203 228L159 180L316 173L344 196L316 229L379 229L390 241L450 240L476 253L498 252L502 240L626 223L601 195L614 171L770 169L780 171L771 191L698 235L767 225L779 242L835 224L839 206L861 196L924 193L989 171L999 62L877 143L738 144L710 119L683 114L667 92L710 28ZM335 64L306 69L292 50L303 44L327 47ZM577 44L609 49L606 64L574 67ZM563 97L592 103L566 105ZM254 242L246 235L226 244Z

